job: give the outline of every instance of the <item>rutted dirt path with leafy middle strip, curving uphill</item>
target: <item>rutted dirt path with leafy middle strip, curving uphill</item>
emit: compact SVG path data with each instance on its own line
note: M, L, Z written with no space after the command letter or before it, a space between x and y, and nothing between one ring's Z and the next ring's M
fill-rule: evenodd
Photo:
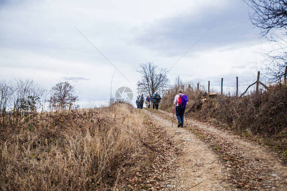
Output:
M174 190L287 190L287 165L266 148L199 121L178 128L171 113L145 113L182 149Z

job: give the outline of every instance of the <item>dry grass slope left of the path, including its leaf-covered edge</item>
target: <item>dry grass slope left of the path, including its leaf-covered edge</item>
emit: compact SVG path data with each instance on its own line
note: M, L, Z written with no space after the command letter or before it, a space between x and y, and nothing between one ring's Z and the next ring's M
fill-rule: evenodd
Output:
M180 154L163 127L124 102L12 115L0 130L0 190L161 189Z

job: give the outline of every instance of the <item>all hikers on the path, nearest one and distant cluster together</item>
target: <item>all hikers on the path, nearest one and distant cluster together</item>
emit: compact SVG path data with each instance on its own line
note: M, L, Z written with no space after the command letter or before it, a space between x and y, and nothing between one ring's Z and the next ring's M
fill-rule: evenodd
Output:
M146 99L144 99L143 94L139 95L136 99L136 105L137 108L142 109L143 102L145 101L147 108L150 108L151 103L153 104L153 109L158 110L158 104L161 100L161 97L159 94L153 94L153 96L147 96ZM176 118L178 121L178 127L183 127L184 122L184 112L186 108L186 104L188 102L188 98L185 94L183 94L183 90L179 89L178 94L175 96L174 99L174 111L173 113L176 114Z

